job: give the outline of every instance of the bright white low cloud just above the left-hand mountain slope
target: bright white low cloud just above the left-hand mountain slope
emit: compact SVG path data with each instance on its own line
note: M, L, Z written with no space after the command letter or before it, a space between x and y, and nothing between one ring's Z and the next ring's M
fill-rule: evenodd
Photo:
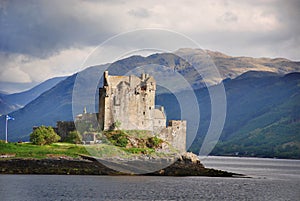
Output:
M82 69L82 64L94 47L66 49L48 58L39 59L23 54L7 57L0 54L5 68L0 68L1 82L41 82L46 79L66 76Z

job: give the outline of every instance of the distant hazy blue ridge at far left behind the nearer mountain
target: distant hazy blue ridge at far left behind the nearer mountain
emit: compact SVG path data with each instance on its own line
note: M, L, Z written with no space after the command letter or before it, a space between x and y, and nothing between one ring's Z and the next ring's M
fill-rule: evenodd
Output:
M55 77L42 82L41 84L20 93L2 94L0 102L0 113L7 114L24 107L26 104L36 99L43 92L49 90L66 77Z

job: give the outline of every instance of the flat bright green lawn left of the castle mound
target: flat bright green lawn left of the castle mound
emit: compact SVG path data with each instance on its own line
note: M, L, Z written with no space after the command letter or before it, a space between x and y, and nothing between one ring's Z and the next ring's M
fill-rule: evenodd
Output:
M15 154L18 158L47 158L49 155L69 156L76 158L78 154L89 155L83 145L54 143L51 145L33 145L31 143L0 142L0 155Z

